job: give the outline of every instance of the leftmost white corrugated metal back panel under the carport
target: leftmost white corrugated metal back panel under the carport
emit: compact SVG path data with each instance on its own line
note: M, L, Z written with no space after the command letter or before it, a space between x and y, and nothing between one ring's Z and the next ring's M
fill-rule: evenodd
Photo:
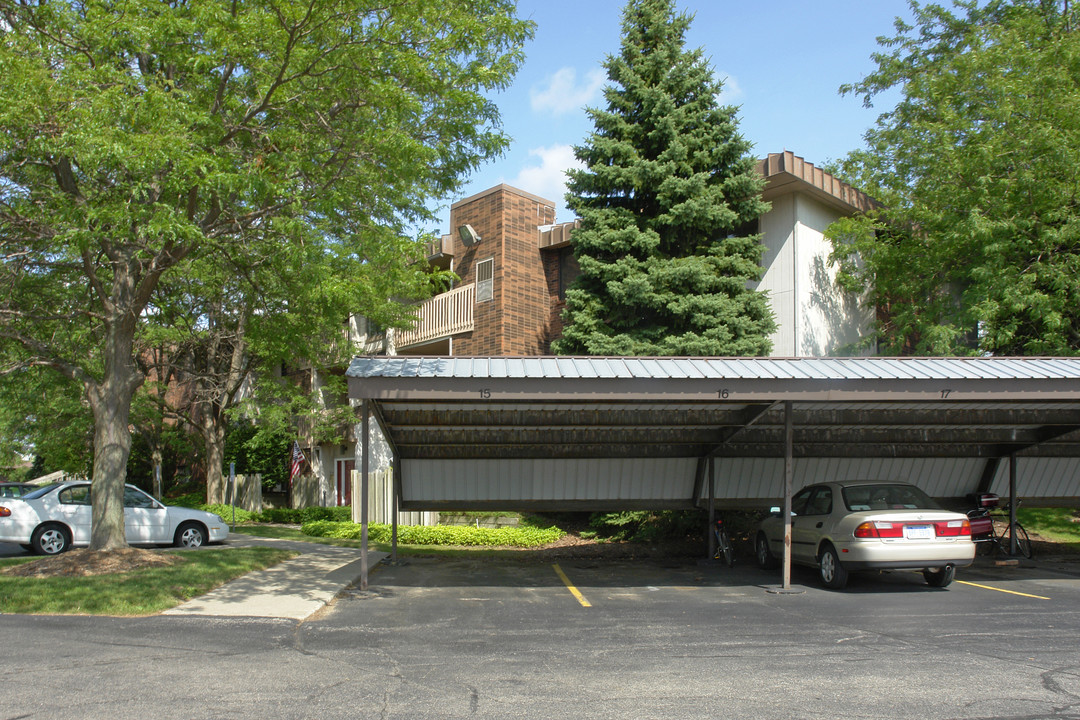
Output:
M404 460L406 503L685 501L696 458ZM658 479L660 481L658 481Z

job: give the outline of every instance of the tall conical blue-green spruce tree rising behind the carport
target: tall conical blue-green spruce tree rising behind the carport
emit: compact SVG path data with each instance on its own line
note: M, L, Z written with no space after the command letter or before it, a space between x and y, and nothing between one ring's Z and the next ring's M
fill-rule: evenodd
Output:
M774 328L751 223L769 208L735 108L672 0L631 0L605 63L607 109L575 154L567 202L581 274L559 354L761 355ZM753 228L751 228L752 230Z

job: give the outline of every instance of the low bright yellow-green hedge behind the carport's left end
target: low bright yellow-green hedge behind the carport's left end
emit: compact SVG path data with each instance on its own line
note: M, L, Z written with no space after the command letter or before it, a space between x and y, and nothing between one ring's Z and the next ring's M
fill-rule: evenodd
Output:
M313 520L305 522L300 532L313 538L360 540L361 526L355 522ZM553 543L566 533L558 528L476 528L461 525L404 525L397 528L397 542L405 545L484 545L495 547L538 547ZM367 539L375 543L389 543L389 525L370 524Z

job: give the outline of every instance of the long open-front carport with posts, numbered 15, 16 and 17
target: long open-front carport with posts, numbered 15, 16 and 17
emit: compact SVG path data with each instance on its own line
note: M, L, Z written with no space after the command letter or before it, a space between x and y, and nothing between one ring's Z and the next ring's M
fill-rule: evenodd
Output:
M362 481L374 422L402 510L786 507L826 477L1080 495L1080 358L382 356L347 377Z

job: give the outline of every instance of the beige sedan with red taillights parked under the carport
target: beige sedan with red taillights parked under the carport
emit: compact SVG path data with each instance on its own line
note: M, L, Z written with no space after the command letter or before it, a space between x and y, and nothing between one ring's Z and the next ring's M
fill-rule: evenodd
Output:
M773 567L783 548L784 518L774 512L754 541L758 565ZM945 587L974 557L968 516L914 485L822 483L792 498L792 562L818 568L826 587L843 587L856 570L922 570L927 583Z

